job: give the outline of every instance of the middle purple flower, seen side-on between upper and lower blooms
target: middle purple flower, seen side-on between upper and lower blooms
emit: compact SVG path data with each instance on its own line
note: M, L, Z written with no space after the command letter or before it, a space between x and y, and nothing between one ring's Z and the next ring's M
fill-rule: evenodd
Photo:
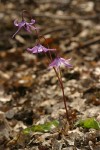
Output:
M27 48L27 50L35 54L35 53L41 53L41 52L54 51L55 49L49 49L49 48L42 46L41 44L38 44L34 46L33 48Z

